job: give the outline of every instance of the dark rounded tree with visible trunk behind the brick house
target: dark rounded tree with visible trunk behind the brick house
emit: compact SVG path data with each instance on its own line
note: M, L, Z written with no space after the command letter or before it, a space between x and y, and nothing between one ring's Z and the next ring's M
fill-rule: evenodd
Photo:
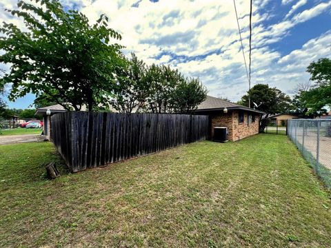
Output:
M254 85L248 92L250 100L254 103L261 103L259 110L265 112L260 120L260 132L263 132L265 125L268 123L270 114L288 113L291 109L290 96L281 92L276 87L269 87L267 84ZM241 98L243 105L248 105L248 94Z

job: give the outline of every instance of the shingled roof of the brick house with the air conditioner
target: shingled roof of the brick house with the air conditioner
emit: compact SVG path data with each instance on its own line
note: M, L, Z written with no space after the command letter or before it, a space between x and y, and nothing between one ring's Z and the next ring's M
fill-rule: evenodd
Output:
M225 107L228 110L246 110L250 112L256 112L259 114L265 114L262 111L254 110L250 107L245 107L239 104L230 103L228 101L224 101L214 96L207 96L205 101L203 101L198 105L197 110L195 110L195 112L210 112L210 111L224 110Z

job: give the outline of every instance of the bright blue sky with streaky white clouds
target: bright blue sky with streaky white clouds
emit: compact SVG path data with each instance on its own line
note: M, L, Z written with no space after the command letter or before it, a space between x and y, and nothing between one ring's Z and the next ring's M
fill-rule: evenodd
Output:
M110 28L122 34L125 54L134 52L147 64L177 68L199 77L211 96L238 101L248 90L237 19L232 0L61 0L66 10L79 10L91 23L107 14ZM1 0L0 21L23 22L4 8L17 1ZM237 0L246 61L249 53L249 0ZM292 94L312 61L331 58L330 0L253 0L252 86L268 83ZM0 68L8 69L8 65ZM9 102L25 108L34 96Z

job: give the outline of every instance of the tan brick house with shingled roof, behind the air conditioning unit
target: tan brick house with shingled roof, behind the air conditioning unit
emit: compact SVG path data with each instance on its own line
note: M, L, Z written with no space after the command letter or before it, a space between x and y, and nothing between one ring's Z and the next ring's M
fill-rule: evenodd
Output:
M207 96L195 114L210 116L210 136L214 136L214 127L228 127L229 141L239 141L242 138L259 133L259 110L230 103L213 96Z

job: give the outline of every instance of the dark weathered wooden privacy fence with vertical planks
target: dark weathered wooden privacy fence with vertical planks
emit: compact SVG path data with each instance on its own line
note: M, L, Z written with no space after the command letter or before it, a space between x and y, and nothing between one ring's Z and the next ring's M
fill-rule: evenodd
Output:
M208 138L208 116L66 112L51 139L72 172Z

